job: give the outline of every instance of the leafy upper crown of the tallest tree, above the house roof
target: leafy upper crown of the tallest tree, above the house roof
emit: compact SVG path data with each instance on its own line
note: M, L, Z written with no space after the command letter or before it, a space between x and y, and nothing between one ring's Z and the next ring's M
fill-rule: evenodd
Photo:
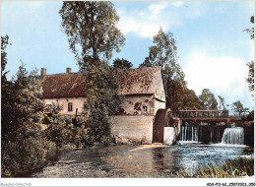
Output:
M109 60L112 51L120 51L124 44L123 34L115 27L119 17L111 2L64 1L59 14L80 71L97 59Z

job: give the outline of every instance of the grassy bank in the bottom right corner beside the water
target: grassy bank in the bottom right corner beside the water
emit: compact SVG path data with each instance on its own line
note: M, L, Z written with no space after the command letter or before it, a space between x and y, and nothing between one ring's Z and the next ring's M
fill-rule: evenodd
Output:
M192 175L187 172L174 174L177 178L237 178L254 175L254 159L239 157L226 159L223 164L208 164Z

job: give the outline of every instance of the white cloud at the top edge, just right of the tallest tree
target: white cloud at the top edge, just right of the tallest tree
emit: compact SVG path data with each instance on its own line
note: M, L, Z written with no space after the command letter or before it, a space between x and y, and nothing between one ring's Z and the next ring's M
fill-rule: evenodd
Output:
M134 32L140 37L153 38L162 28L169 31L173 27L180 26L184 19L195 19L206 11L205 5L195 2L189 8L183 8L183 1L155 2L148 7L134 9L118 8L120 16L117 27L124 33ZM172 6L170 6L172 5Z

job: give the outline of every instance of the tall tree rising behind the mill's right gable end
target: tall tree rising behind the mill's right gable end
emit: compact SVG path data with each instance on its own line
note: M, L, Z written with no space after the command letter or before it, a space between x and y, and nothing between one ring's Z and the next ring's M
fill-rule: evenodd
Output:
M160 28L160 31L153 38L153 43L154 45L150 47L149 56L139 67L161 66L167 92L166 106L174 110L189 108L185 98L190 92L186 88L185 74L177 63L177 47L173 34L170 31L165 33ZM190 105L189 109L200 107L196 101L194 104L192 104L193 106Z

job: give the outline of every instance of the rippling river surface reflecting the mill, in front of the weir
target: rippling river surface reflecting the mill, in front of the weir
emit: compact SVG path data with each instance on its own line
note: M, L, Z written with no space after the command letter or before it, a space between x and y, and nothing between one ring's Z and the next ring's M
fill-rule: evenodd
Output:
M253 157L253 153L250 148L199 144L122 145L65 153L32 177L170 177L179 171L192 174L199 166L226 158Z

